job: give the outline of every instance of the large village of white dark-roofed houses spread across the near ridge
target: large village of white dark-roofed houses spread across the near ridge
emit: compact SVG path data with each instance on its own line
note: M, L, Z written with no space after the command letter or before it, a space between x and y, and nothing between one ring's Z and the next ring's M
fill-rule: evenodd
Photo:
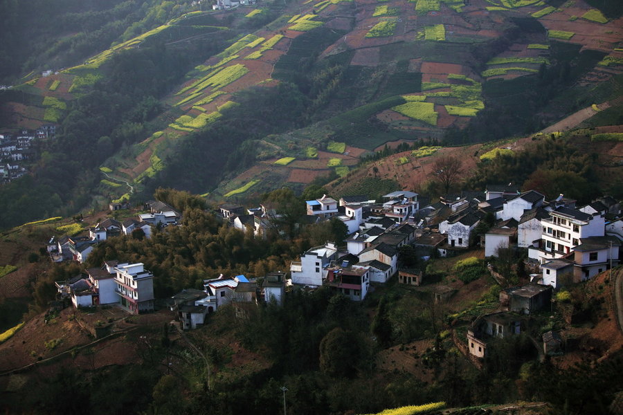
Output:
M301 225L338 219L347 228L343 241L327 241L323 246L300 253L287 270L273 270L258 278L219 275L203 282L203 289L187 288L166 299L177 312L179 329L203 326L207 315L227 304L244 317L249 307L262 303L282 304L287 293L313 291L325 286L354 302L361 302L376 286L392 277L398 284L427 284L421 269L408 268L401 261L402 247L415 250L421 264L431 258L451 257L480 246L486 258L500 250L527 250L525 267L530 282L503 287L495 313L481 315L467 332L463 351L473 359L485 357L490 338L521 333L525 315L550 308L552 294L563 286L586 281L620 264L623 241L623 212L620 202L603 196L585 206L562 194L555 200L518 187L488 185L485 192L449 194L437 203L415 192L397 191L381 201L368 196L322 196L306 201ZM127 208L111 203L110 210ZM88 237L62 237L48 242L53 261L83 263L100 241L120 234L143 232L152 235L154 227L179 225L181 214L160 201L144 206L147 213L123 222L105 219L89 230ZM217 215L241 232L264 237L280 213L269 204L255 208L226 203ZM476 234L481 221L493 223ZM498 278L493 267L489 272ZM143 264L106 261L100 268L69 281L57 282L59 299L75 307L118 304L128 313L154 311L154 275ZM435 285L435 302L446 302L455 290ZM557 352L561 339L556 332L543 335L545 353Z

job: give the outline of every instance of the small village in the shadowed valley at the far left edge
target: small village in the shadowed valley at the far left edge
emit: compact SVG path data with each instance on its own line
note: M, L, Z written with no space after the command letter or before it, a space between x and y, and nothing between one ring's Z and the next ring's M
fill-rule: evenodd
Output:
M54 124L43 125L35 131L22 129L15 134L0 134L0 183L9 183L28 173L25 166L35 158L35 139L44 140L55 136Z

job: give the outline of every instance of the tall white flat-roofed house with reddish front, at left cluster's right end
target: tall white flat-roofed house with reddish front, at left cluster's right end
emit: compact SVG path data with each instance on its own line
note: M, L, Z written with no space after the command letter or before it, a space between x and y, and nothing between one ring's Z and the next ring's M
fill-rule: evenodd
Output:
M132 314L154 311L154 275L142 263L118 264L114 270L121 306Z

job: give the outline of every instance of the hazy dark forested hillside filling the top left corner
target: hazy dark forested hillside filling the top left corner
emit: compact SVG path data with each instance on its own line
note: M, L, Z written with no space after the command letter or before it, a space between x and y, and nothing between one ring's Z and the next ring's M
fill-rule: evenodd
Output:
M2 1L0 80L80 64L190 10L190 1Z

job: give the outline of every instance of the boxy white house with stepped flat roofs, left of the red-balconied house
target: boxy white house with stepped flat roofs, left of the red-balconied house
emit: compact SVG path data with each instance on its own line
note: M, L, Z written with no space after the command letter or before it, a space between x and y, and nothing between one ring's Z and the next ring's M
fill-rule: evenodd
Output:
M327 273L324 268L332 259L336 259L336 255L337 248L332 242L307 250L300 256L300 261L293 261L290 265L292 283L321 286Z

